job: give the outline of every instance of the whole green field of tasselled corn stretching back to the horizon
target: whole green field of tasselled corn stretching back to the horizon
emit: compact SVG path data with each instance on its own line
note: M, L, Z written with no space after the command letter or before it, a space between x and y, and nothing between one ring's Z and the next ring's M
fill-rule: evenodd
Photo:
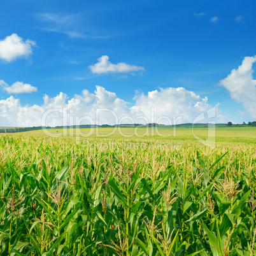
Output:
M256 127L120 131L0 135L1 255L256 253Z

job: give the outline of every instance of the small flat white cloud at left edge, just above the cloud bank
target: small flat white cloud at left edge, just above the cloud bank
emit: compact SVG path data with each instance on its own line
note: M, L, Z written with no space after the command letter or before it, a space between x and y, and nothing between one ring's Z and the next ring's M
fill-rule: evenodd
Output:
M36 87L29 85L29 83L18 81L9 86L6 82L0 80L0 86L2 86L3 90L5 90L8 94L30 94L31 92L38 91Z

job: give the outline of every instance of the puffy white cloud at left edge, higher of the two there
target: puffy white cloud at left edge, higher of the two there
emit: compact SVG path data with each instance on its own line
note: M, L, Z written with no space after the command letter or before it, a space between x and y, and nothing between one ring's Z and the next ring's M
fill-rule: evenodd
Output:
M32 46L36 46L36 42L30 39L24 42L17 34L6 36L0 40L0 59L11 62L17 58L27 58L32 53Z

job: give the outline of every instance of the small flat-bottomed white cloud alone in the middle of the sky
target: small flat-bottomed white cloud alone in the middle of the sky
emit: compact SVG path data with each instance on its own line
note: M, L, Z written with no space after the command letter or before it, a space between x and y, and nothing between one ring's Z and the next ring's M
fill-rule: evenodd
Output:
M117 64L112 64L109 61L109 57L107 55L101 56L96 64L89 66L92 73L95 74L106 74L106 73L129 73L136 71L144 71L143 67L129 65L124 62L120 62Z

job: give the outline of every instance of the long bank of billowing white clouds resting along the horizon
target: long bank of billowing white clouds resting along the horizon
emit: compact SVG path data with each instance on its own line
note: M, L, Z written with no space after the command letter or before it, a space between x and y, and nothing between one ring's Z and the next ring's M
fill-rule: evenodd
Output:
M103 87L71 99L62 92L55 97L45 95L44 103L22 106L11 96L0 101L0 126L79 125L79 124L174 124L192 122L211 108L207 97L200 97L182 87L153 90L137 95L134 106ZM42 119L43 117L43 119ZM171 122L171 123L170 123Z

